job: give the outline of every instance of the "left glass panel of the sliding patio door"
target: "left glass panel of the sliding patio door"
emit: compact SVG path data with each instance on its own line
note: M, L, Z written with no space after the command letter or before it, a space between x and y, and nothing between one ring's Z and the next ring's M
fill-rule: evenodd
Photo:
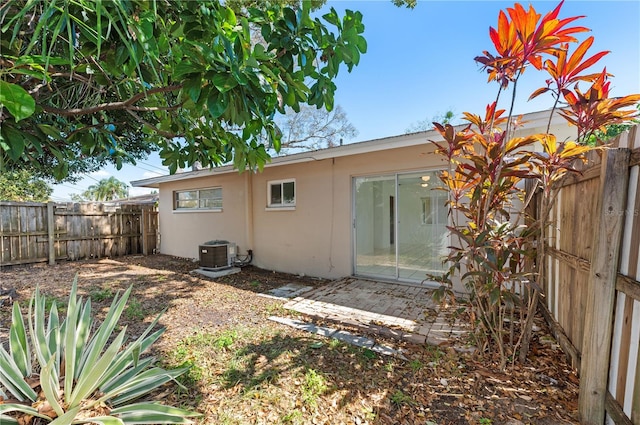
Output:
M354 179L355 273L396 276L395 176Z

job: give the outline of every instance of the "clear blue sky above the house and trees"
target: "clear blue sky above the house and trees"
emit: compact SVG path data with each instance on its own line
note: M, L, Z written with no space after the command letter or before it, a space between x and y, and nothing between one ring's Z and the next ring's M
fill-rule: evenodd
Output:
M497 84L488 83L486 73L473 58L483 51L494 52L489 27L497 26L498 13L512 7L513 1L427 1L419 0L414 9L399 8L390 0L329 0L325 6L359 10L363 14L367 53L360 64L347 72L341 69L335 83L335 104L340 105L358 136L345 143L404 134L414 124L451 110L456 117L468 111L484 114L497 93ZM556 1L522 1L538 13L552 10ZM614 75L612 96L640 93L640 0L567 0L560 17L585 16L576 25L591 28L578 34L580 40L593 35L591 54L609 50L594 67L606 66ZM543 73L527 70L518 83L516 113L535 112L552 106L550 97L527 102L529 94L545 85ZM507 96L502 97L507 99ZM506 108L506 100L500 105ZM54 186L54 201L70 200L102 178L115 176L128 184L168 174L156 154L136 166L121 170L106 167L76 184ZM130 196L151 189L131 188Z

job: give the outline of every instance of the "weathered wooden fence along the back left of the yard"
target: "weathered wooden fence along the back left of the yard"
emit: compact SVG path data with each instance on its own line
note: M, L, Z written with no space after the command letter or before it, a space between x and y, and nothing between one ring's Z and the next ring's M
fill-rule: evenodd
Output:
M0 202L0 266L150 254L152 205Z

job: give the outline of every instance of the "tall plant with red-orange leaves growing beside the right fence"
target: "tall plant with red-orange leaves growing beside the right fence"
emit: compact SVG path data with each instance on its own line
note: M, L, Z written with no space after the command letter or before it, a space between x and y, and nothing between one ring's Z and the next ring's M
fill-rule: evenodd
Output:
M498 355L501 368L509 359L526 361L544 276L549 212L557 195L554 184L575 172L576 161L593 149L585 145L589 138L608 125L634 119L637 110L629 107L640 101L640 95L609 97L610 74L589 71L608 52L588 55L593 37L579 42L575 35L589 29L571 26L581 16L559 18L562 4L544 16L518 3L501 11L497 28L489 30L496 51L475 58L489 81L499 83L496 100L484 116L465 112L469 124L461 130L434 123L444 139L436 143L437 152L449 162L441 180L449 192L449 230L457 241L447 272L437 277L443 285L436 294L451 295L454 276L463 281L477 343ZM551 93L554 104L546 133L516 137L515 86L531 66L549 78L530 98ZM580 83L590 87L583 92ZM505 115L498 103L510 85L513 95ZM577 127L576 140L559 141L549 134L558 108ZM534 191L541 192L537 218L525 214Z

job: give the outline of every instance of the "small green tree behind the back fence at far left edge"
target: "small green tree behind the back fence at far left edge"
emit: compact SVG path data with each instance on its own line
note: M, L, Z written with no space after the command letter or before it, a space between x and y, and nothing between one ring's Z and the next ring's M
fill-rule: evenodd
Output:
M26 170L0 173L0 201L47 202L53 189Z

